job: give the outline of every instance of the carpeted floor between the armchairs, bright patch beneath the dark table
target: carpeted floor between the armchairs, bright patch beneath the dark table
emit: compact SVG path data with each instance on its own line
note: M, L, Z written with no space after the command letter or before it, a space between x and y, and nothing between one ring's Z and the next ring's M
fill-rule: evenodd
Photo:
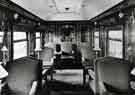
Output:
M49 80L44 95L93 95L88 85L83 85L81 70L56 71Z

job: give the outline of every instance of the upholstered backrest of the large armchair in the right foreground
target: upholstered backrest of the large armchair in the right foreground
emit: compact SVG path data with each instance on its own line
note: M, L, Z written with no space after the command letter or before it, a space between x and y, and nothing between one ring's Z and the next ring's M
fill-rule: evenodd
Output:
M129 63L126 60L104 57L96 62L98 79L104 82L108 88L116 88L128 92L129 90ZM111 87L112 86L112 87Z

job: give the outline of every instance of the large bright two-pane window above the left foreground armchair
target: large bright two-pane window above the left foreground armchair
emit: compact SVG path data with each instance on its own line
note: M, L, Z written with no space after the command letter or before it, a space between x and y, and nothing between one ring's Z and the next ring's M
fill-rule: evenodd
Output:
M14 59L27 56L27 40L25 32L14 32Z

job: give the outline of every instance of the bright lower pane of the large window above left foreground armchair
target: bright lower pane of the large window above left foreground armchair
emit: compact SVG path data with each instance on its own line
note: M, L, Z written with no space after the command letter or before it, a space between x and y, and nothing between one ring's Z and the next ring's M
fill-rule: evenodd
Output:
M27 42L14 43L14 59L27 56Z

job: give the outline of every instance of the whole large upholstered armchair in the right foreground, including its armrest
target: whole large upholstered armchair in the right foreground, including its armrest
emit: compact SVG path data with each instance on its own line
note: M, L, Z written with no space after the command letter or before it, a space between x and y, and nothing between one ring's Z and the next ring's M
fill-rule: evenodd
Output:
M128 95L129 62L124 59L103 57L96 61L97 92L101 95Z

